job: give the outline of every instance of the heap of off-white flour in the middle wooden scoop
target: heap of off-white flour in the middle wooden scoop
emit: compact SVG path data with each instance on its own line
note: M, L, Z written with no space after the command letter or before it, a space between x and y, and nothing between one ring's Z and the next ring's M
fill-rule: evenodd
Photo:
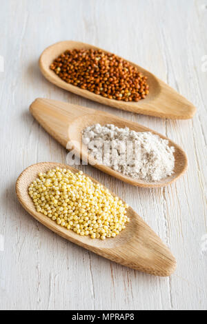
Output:
M97 163L144 181L171 176L175 148L151 132L135 132L115 125L92 125L83 130L83 143Z

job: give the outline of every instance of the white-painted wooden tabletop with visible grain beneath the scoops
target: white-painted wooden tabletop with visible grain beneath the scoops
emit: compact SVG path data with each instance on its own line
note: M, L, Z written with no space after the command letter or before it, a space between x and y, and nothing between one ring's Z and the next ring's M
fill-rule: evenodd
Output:
M0 2L1 70L4 59L4 72L0 72L0 308L205 310L207 1ZM170 121L123 112L50 84L39 72L39 54L66 39L92 43L139 63L192 101L197 106L195 118ZM132 205L170 247L177 258L177 270L170 278L136 272L83 250L34 221L17 203L14 185L24 168L41 161L66 162L66 150L28 111L37 97L137 121L186 150L187 174L157 190L133 188L95 168L83 168Z

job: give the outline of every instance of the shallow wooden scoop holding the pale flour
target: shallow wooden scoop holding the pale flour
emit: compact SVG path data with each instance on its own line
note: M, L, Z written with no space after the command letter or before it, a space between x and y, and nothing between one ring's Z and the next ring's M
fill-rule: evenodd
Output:
M65 148L73 149L73 152L77 156L81 156L81 159L84 161L88 161L88 149L85 145L82 145L81 132L84 128L95 123L100 123L101 125L112 123L119 128L128 127L130 130L135 130L136 132L152 132L161 136L162 139L167 139L165 136L150 130L150 128L128 121L127 119L116 117L113 114L51 99L36 99L30 105L30 112L43 128L55 137L61 145ZM112 168L106 165L98 165L92 159L89 162L95 168L131 185L145 188L162 187L177 180L185 172L188 165L185 152L170 140L169 145L175 147L175 173L158 182L149 183L139 179L132 179L129 176L112 170Z

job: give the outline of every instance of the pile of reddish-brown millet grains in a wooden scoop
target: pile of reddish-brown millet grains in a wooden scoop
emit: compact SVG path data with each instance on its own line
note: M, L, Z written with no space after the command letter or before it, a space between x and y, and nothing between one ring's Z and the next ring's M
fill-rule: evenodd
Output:
M66 50L50 65L63 81L108 99L139 101L149 93L147 77L115 54Z

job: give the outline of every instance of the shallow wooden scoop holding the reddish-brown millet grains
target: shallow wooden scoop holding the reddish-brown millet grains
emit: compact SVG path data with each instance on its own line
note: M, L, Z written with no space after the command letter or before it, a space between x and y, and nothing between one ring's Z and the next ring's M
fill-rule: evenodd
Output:
M81 43L79 41L61 41L59 43L55 43L54 45L46 48L39 59L39 66L44 77L46 77L46 79L59 86L60 88L74 92L75 94L79 94L79 96L88 98L90 100L98 101L99 103L103 103L104 105L110 105L122 110L170 119L193 118L196 109L192 103L182 97L174 89L170 88L169 85L157 79L155 75L148 72L147 70L144 70L144 68L141 68L135 63L130 62L139 70L139 72L142 72L146 77L148 77L148 84L150 86L150 94L148 94L146 99L139 102L125 102L117 101L115 99L107 99L100 96L99 94L94 94L93 92L90 92L88 90L83 90L76 87L75 85L66 83L65 81L61 80L54 71L50 70L50 64L61 53L65 52L66 50L72 50L75 48L94 48L100 50L100 48Z

